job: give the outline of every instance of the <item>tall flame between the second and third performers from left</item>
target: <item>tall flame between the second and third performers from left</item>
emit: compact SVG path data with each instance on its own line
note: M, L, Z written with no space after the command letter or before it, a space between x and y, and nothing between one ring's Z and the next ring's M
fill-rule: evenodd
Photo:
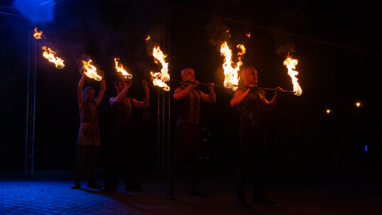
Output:
M163 54L163 52L161 51L159 47L154 47L153 56L157 64L158 62L161 62L162 64L161 72L156 72L156 73L154 73L153 71L150 72L151 76L154 78L153 83L155 86L160 86L165 91L170 91L170 87L163 82L163 81L170 81L170 75L168 74L168 63L165 62L165 58L167 56Z

